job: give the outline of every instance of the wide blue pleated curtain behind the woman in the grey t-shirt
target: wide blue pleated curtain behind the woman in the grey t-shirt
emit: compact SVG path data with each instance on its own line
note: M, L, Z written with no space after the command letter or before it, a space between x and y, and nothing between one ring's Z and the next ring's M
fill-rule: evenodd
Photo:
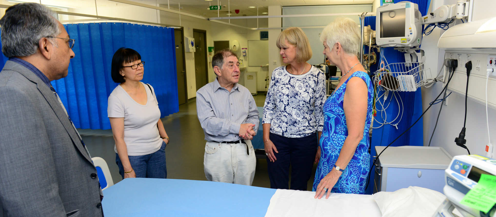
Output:
M64 25L76 43L67 77L52 81L77 128L110 129L107 99L118 85L110 75L112 56L125 47L145 61L142 82L153 86L161 117L178 112L174 29L130 23Z

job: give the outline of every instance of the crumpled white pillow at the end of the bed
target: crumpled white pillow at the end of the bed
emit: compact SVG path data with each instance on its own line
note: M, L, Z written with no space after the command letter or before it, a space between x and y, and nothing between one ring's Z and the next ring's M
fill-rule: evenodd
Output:
M431 217L446 199L443 194L417 186L372 195L382 217Z

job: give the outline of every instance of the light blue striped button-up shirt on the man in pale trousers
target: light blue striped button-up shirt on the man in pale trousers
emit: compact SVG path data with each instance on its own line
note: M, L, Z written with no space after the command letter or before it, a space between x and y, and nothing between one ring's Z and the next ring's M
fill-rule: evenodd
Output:
M229 92L215 79L196 91L196 113L206 141L229 142L240 140L241 124L255 124L259 118L255 100L246 87L234 84Z

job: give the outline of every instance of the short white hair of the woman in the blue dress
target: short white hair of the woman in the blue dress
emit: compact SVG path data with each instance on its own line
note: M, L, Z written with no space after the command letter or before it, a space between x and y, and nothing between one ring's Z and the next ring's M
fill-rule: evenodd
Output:
M320 42L327 43L329 49L339 42L343 51L349 55L359 55L360 47L360 28L358 24L348 17L336 18L329 23L320 34Z

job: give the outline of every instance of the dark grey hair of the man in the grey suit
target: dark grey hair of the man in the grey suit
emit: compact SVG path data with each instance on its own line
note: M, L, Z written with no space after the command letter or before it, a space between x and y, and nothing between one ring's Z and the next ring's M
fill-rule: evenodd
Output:
M61 33L56 17L53 10L39 3L10 6L0 19L1 52L7 57L36 54L41 38ZM48 39L57 46L53 38Z

